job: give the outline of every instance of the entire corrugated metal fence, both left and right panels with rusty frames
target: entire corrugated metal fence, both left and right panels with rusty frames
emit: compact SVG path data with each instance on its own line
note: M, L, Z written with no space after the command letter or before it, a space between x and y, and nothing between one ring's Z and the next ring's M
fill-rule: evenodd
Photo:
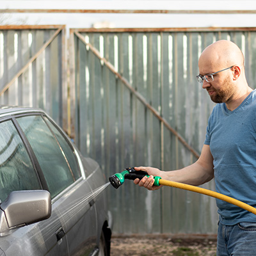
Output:
M0 102L45 109L106 177L196 160L214 106L195 79L197 61L215 40L241 47L255 88L253 28L71 29L69 65L64 28L0 27ZM214 190L214 182L204 188ZM109 187L108 200L116 233L216 233L215 200L207 196L150 192L128 180Z

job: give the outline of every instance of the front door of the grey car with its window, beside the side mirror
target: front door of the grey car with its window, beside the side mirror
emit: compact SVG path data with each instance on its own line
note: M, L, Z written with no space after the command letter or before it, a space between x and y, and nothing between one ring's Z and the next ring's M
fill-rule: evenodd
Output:
M29 154L15 127L15 120L0 122L0 199L12 191L42 189L35 171L35 159ZM22 133L22 132L21 132ZM51 217L26 227L1 234L0 251L4 255L68 255L67 238L58 239L62 227L59 205L52 205Z

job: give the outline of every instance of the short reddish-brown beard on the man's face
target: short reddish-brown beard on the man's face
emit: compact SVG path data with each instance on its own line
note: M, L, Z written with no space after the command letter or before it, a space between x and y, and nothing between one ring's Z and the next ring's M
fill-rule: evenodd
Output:
M222 86L218 90L214 90L214 95L210 95L211 100L214 103L226 103L234 95L235 89L234 85L230 83L228 77L223 82Z

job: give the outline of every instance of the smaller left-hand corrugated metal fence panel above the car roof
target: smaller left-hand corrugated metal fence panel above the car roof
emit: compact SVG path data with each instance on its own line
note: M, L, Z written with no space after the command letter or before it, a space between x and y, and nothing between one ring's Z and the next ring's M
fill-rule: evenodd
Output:
M65 26L0 26L0 104L42 108L67 128L64 38Z

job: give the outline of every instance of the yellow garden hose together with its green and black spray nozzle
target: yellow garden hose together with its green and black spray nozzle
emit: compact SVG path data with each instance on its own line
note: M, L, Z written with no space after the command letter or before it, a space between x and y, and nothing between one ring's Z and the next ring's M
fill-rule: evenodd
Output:
M123 183L125 179L129 179L129 180L135 180L135 179L142 179L143 177L149 177L148 173L145 171L136 171L134 170L133 167L129 167L126 168L123 172L121 173L115 173L113 174L111 177L109 177L109 182L111 183L111 185L114 188L119 188ZM241 202L235 198L232 198L230 196L226 196L223 195L221 193L215 192L215 191L211 191L209 189L205 189L205 188L199 188L196 186L192 186L192 185L188 185L188 184L184 184L184 183L180 183L180 182L174 182L174 181L170 181L170 180L163 180L161 179L161 177L156 176L154 177L155 182L154 185L155 186L169 186L172 188L180 188L180 189L185 189L188 191L193 191L196 193L200 193L202 195L207 195L207 196L212 196L214 198L218 198L220 200L223 200L225 202L228 202L230 204L234 204L240 208L243 208L246 211L252 212L253 214L256 215L256 209L254 207L252 207L251 205L245 204L244 202Z

